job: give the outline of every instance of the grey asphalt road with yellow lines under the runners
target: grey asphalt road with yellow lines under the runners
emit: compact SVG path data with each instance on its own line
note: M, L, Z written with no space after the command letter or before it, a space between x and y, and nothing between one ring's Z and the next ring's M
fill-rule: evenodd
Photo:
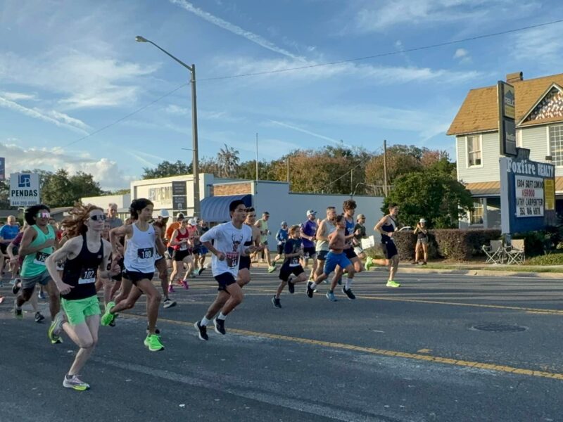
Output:
M559 280L403 274L391 289L376 271L357 277L357 300L298 285L274 309L277 273L255 269L227 335L203 342L209 273L160 310L164 351L143 345L144 298L101 327L86 392L62 387L77 347L51 345L32 312L14 319L5 284L0 421L563 420Z

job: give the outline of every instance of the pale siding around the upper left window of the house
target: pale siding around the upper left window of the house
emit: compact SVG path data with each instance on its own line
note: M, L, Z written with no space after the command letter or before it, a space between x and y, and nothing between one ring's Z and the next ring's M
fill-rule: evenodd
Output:
M465 183L499 180L498 158L500 145L498 132L481 134L481 166L467 167L465 136L457 136L457 179Z

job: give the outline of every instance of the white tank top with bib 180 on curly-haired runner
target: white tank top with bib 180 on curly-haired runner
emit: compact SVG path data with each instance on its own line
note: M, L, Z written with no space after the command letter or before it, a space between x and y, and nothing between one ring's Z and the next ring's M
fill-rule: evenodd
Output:
M132 224L133 236L127 239L124 265L127 271L137 271L145 274L154 272L156 257L155 241L156 231L152 224L142 231L137 223Z

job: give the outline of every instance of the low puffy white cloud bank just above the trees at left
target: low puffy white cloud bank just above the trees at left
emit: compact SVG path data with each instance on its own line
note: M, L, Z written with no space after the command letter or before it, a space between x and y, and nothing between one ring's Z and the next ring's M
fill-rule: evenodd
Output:
M12 139L13 141L13 139ZM93 160L63 153L56 148L22 148L15 143L0 143L0 155L6 157L6 174L21 170L41 169L54 172L65 169L69 174L85 172L94 177L103 189L127 188L135 178L126 176L118 163L108 158Z

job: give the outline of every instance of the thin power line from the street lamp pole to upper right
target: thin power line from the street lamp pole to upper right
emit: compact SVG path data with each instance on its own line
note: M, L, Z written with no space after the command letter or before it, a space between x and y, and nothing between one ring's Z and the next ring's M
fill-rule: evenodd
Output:
M556 23L562 23L562 22L563 22L563 19L552 20L551 22L538 23L537 25L530 25L530 26L527 26L527 27L519 27L519 28L515 28L515 29L513 29L513 30L506 30L506 31L500 31L500 32L492 32L491 34L476 35L475 37L469 37L469 38L463 38L463 39L455 39L455 40L453 40L453 41L445 41L445 42L441 42L441 43L438 43L438 44L430 44L430 45L427 45L427 46L413 47L412 49L387 51L386 53L374 54L374 55L372 55L372 56L363 56L363 57L356 57L356 58L348 58L348 59L346 59L346 60L336 60L336 61L331 61L331 62L326 62L326 63L317 63L317 64L315 64L315 65L298 66L298 67L296 67L296 68L286 68L286 69L277 69L277 70L264 70L263 72L243 73L243 74L241 74L241 75L229 75L229 76L208 77L208 78L205 78L205 79L198 79L198 82L214 81L214 80L220 80L220 79L234 79L234 78L239 78L239 77L258 76L258 75L270 75L270 74L272 74L272 73L281 73L281 72L293 72L293 70L303 70L303 69L310 69L310 68L320 68L320 67L322 67L322 66L340 65L340 64L342 64L342 63L350 63L350 62L361 61L361 60L369 60L370 58L380 58L380 57L386 57L386 56L395 56L395 55L397 55L397 54L412 53L413 51L422 51L422 50L436 49L436 48L438 48L438 47L450 46L450 45L453 45L453 44L460 44L460 43L462 43L462 42L475 41L476 39L498 37L499 35L512 34L512 33L514 33L514 32L521 32L521 31L526 31L526 30L532 30L532 29L534 29L534 28L545 27L545 26L548 26L548 25L555 25Z

